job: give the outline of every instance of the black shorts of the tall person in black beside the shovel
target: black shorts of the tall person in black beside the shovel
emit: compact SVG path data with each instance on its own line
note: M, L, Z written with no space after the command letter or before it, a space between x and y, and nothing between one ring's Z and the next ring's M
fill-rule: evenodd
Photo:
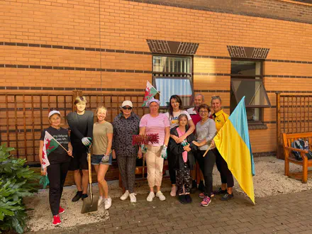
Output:
M72 156L74 157L70 160L69 171L89 169L87 155L87 147L82 144L72 143Z

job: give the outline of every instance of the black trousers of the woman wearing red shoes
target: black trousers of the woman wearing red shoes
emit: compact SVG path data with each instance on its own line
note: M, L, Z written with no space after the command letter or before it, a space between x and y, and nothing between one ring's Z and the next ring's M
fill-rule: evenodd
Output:
M49 184L49 202L52 215L56 216L60 208L60 201L63 192L66 175L70 162L51 164L47 167Z

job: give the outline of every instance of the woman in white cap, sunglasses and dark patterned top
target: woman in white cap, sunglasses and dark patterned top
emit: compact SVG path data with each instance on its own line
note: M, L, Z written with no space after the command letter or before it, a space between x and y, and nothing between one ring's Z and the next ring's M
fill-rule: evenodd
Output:
M126 192L121 200L130 197L130 203L135 203L133 186L135 183L136 158L142 157L141 149L132 145L132 136L139 134L140 118L133 113L131 101L123 101L121 113L113 119L113 155L116 155L121 180Z

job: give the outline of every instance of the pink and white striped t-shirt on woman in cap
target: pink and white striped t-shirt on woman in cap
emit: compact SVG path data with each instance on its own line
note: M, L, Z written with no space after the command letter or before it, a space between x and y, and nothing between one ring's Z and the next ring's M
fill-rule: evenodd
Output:
M159 143L151 144L153 146L164 145L165 142L165 128L170 127L169 120L164 113L159 113L157 117L150 116L149 113L144 115L140 120L140 127L145 127L145 134L155 134L159 135Z

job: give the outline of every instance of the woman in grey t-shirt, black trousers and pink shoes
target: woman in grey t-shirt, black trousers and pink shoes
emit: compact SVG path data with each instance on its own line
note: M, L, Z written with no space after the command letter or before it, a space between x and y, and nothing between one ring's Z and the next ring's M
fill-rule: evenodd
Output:
M203 157L217 131L216 123L211 118L208 118L209 112L210 109L208 105L202 104L199 106L199 116L201 116L201 121L196 124L197 138L196 141L193 142L194 145L199 147L196 154L196 160L199 162L199 167L201 168L201 172L203 172L205 179L205 191L204 193L199 194L199 197L203 199L203 201L201 201L201 206L208 206L211 203L212 170L213 165L216 162L216 156L213 155L213 152L211 151L216 147L214 145L211 147L211 150L208 151L206 156Z

